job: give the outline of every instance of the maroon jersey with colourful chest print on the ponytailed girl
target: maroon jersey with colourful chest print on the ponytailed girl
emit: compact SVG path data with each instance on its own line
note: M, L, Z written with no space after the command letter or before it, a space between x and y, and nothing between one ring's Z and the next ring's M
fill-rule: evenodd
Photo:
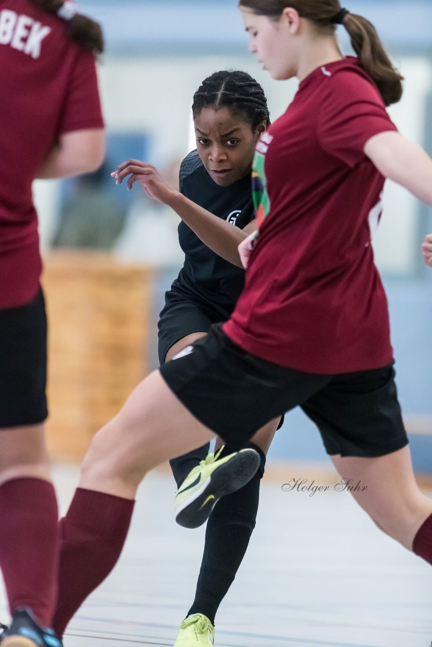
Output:
M387 299L371 225L384 178L365 143L395 131L356 58L313 71L256 147L261 223L225 333L249 353L308 373L391 363Z

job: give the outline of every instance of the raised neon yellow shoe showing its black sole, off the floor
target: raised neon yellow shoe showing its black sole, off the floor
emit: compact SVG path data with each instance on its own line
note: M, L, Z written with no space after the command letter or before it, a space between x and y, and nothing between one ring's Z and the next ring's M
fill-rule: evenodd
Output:
M198 528L210 516L222 497L244 487L258 470L260 455L253 449L242 449L221 459L209 454L201 461L176 492L176 521L184 528Z

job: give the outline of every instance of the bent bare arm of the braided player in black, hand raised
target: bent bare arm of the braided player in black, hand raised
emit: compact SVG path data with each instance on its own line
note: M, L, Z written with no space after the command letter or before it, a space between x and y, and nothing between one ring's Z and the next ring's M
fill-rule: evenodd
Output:
M124 179L128 178L129 190L134 182L139 182L149 197L166 204L176 212L215 254L237 267L243 267L238 245L251 231L251 227L256 228L255 223L249 223L245 230L242 230L211 214L172 188L152 164L146 164L139 160L128 160L120 164L117 171L111 175L117 184L121 184Z

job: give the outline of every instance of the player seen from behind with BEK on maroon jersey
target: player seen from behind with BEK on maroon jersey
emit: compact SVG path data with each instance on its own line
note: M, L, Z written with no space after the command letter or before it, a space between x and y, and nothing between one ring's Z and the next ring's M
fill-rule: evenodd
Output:
M2 647L50 645L58 511L45 450L47 323L35 178L95 170L104 130L100 27L62 0L0 4L0 567Z

